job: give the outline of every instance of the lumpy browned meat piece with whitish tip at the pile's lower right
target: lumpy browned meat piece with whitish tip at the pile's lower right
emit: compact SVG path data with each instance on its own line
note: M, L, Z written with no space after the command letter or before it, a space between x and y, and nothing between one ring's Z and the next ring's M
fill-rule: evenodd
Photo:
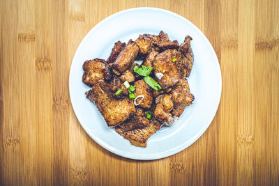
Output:
M166 96L167 98L165 98ZM159 95L156 98L156 108L154 110L154 117L167 125L171 125L174 122L172 114L169 113L173 107L171 98L172 96L169 97L169 95Z

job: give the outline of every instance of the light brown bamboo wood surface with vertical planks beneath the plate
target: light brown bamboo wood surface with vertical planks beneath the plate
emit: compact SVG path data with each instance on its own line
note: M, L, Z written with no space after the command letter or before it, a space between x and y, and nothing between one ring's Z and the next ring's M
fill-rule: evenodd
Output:
M210 127L162 160L105 150L69 98L82 38L105 17L140 6L193 22L222 71ZM1 0L0 7L0 185L279 185L279 1Z

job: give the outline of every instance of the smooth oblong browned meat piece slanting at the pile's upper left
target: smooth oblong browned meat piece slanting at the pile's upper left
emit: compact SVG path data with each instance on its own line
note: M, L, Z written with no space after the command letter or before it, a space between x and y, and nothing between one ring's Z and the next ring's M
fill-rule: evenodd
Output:
M137 43L133 42L133 40L129 40L126 47L123 48L114 63L112 63L112 68L121 73L125 72L130 67L130 64L135 59L138 52L139 47L137 46Z

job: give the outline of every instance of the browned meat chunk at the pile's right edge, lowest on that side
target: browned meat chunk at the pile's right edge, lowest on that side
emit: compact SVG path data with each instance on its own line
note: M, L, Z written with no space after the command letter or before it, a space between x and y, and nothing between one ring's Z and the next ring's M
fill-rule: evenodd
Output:
M179 84L172 90L172 100L174 101L174 109L172 114L176 117L181 116L185 107L192 104L195 97L190 93L189 84L186 79L181 79Z

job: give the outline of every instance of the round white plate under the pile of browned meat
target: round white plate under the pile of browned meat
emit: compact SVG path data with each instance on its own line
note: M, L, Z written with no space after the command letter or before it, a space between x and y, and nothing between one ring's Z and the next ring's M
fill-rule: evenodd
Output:
M188 78L195 101L172 127L153 134L146 148L136 147L123 139L114 128L107 127L103 116L85 97L90 88L82 83L82 64L88 59L107 59L114 42L135 40L139 34L158 34L183 42L193 38L193 70ZM72 38L75 39L75 38ZM132 8L107 17L97 24L80 43L70 67L70 100L78 121L100 146L112 153L135 160L156 160L179 153L193 144L209 127L218 109L221 95L221 72L216 53L202 31L184 17L159 8Z

